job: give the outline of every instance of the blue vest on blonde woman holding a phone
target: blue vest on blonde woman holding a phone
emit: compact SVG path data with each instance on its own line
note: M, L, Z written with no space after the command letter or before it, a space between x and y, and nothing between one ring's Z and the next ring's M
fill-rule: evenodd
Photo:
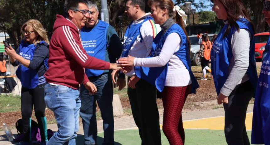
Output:
M46 43L45 41L39 42ZM27 42L22 41L19 46L19 55L27 60L32 60L35 53L36 46L34 44L27 44ZM37 74L38 70L30 70L24 65L19 63L19 66L16 70L16 75L20 79L22 86L28 89L34 89L39 82L39 77Z

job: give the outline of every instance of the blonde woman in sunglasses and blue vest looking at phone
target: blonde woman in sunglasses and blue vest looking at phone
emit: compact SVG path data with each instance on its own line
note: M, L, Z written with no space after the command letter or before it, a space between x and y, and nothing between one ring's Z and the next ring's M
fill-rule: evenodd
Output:
M49 41L47 31L38 20L28 20L21 27L24 36L19 48L15 51L11 46L5 52L13 66L18 66L16 75L22 84L21 112L24 138L19 145L31 144L31 116L34 106L35 116L40 128L41 145L46 145L47 121L44 101L44 74L49 57Z

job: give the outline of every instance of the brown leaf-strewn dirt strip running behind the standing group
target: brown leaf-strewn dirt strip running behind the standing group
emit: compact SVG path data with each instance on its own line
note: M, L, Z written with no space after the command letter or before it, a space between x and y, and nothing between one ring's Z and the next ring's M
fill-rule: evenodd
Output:
M197 68L199 70L199 67ZM189 94L186 103L184 106L184 110L202 110L202 109L213 109L217 106L216 103L216 91L213 83L213 79L211 75L208 74L207 81L201 81L199 77L201 77L202 73L199 71L195 71L194 75L198 79L198 83L200 87L197 89L196 94ZM122 96L127 96L126 94ZM128 97L120 97L123 109L131 109ZM163 108L162 99L157 99L157 105L159 108ZM97 107L97 111L99 112L99 108ZM53 112L50 109L46 109L46 118L48 124L55 124L55 117ZM21 118L21 112L7 112L0 113L0 125L3 123L7 123L11 128L14 128L15 123L18 119ZM32 115L33 120L36 121L35 113L33 111ZM80 119L81 124L81 119Z

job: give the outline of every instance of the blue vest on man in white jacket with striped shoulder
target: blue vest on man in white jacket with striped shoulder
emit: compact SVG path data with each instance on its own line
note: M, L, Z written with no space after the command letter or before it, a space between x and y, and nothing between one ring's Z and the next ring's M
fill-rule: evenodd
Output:
M141 36L141 27L145 21L154 20L152 17L146 17L142 23L133 24L132 22L127 26L127 30L124 36L124 45L123 45L123 52L122 57L127 57L130 48L132 47L133 43L135 42L137 36ZM141 36L141 42L143 41L143 37Z

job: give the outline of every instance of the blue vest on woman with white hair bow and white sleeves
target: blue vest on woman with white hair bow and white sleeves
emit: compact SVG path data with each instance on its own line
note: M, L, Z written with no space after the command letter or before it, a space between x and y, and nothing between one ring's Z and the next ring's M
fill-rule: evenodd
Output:
M159 55L167 36L173 32L176 32L181 37L182 41L179 50L174 54L176 54L176 56L183 62L183 64L186 66L186 69L189 71L189 75L192 80L191 93L196 93L196 89L199 87L199 84L191 71L188 41L186 39L185 32L178 24L172 25L165 32L164 35L162 35L163 30L158 33L158 35L153 40L152 50L149 57L155 57ZM156 86L159 92L162 92L164 89L167 71L168 71L168 63L162 67L152 67L152 68L139 66L135 67L136 75L139 78L144 79L149 83L151 83L152 85Z

